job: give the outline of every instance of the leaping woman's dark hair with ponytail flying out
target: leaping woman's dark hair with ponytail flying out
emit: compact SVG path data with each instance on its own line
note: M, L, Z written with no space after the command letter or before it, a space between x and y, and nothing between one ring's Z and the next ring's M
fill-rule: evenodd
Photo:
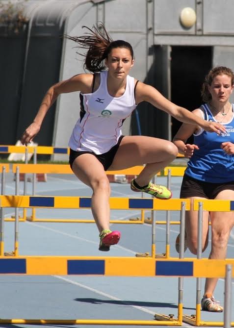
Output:
M93 29L87 26L83 27L89 30L89 32L84 33L85 35L78 37L65 35L65 37L78 43L76 48L87 50L86 54L77 51L79 55L85 57L84 69L92 73L103 71L105 69L104 59L108 57L108 54L114 48L129 49L133 59L133 49L130 43L123 40L113 41L102 23L97 26L93 25Z

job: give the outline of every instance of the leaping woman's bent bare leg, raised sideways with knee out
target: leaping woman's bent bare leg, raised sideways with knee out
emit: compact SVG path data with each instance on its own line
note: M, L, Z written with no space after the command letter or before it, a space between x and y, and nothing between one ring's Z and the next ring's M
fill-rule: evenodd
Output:
M109 170L146 164L135 179L140 186L145 186L157 172L169 165L177 154L177 147L170 141L145 136L125 136Z

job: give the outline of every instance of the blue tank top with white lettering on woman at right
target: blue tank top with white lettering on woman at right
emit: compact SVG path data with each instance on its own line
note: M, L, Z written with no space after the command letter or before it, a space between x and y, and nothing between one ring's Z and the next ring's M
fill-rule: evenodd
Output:
M207 104L202 105L202 108L205 120L217 122ZM221 149L223 142L229 141L234 144L234 104L232 110L230 122L222 123L226 127L225 133L218 135L201 129L198 134L194 134L194 144L199 150L194 150L187 163L187 176L212 183L234 181L234 155L228 155Z

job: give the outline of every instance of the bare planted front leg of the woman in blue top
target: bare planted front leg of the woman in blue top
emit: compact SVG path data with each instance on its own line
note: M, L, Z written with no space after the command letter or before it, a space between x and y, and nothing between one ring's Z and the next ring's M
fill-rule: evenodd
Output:
M215 199L219 200L233 200L233 190L221 191ZM230 231L234 227L234 213L233 212L210 212L211 222L211 252L209 258L225 259L227 254L227 245L230 236ZM204 295L213 295L216 287L217 278L207 278L205 284Z

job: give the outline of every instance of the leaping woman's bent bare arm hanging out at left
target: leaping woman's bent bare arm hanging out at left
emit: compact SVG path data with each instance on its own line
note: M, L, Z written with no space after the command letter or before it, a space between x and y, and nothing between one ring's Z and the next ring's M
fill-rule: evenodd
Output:
M21 138L22 144L27 146L27 144L30 143L37 135L37 133L40 131L42 122L48 110L60 94L75 91L89 93L91 90L92 80L92 74L80 74L52 85L52 87L50 87L50 89L45 94L33 122L26 128L25 132L23 133Z

